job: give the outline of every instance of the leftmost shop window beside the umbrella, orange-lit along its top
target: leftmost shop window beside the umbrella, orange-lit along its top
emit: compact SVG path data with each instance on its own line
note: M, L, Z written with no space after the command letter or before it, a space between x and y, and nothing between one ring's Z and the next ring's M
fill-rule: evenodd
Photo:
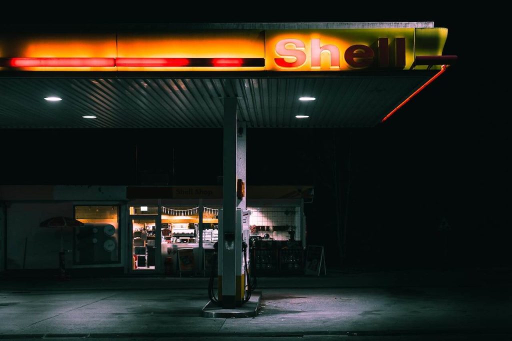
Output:
M120 262L119 206L75 206L75 219L84 226L74 230L74 264Z

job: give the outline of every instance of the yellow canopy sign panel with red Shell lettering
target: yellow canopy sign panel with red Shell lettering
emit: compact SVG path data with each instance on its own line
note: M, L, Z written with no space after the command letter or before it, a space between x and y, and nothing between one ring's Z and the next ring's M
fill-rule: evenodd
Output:
M413 28L265 32L265 70L408 69L413 61Z

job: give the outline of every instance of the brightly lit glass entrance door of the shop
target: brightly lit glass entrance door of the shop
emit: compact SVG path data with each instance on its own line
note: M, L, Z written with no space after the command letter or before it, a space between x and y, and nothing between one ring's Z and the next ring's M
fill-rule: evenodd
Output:
M159 270L160 221L157 217L131 217L132 272L153 273Z

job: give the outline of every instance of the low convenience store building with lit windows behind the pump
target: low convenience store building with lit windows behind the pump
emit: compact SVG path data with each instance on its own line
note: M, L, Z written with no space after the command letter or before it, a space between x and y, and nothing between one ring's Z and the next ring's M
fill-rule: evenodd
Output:
M290 239L302 249L304 204L313 200L313 188L249 190L251 236L274 252L288 248ZM77 275L209 275L221 196L220 186L0 186L0 222L7 245L4 269L19 275L54 275L48 270L58 267L62 238L68 251L66 268ZM39 226L59 216L84 225L62 230ZM265 265L269 268L260 274L276 273L288 264L281 264L276 253Z

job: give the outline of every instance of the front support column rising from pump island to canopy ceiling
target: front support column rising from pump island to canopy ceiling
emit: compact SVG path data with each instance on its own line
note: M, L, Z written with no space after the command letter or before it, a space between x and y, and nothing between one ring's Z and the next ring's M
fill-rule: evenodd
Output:
M241 257L237 245L237 98L224 98L224 160L222 223L219 224L219 270L222 307L236 307L236 259ZM221 222L220 221L220 222ZM241 233L241 231L239 231Z

